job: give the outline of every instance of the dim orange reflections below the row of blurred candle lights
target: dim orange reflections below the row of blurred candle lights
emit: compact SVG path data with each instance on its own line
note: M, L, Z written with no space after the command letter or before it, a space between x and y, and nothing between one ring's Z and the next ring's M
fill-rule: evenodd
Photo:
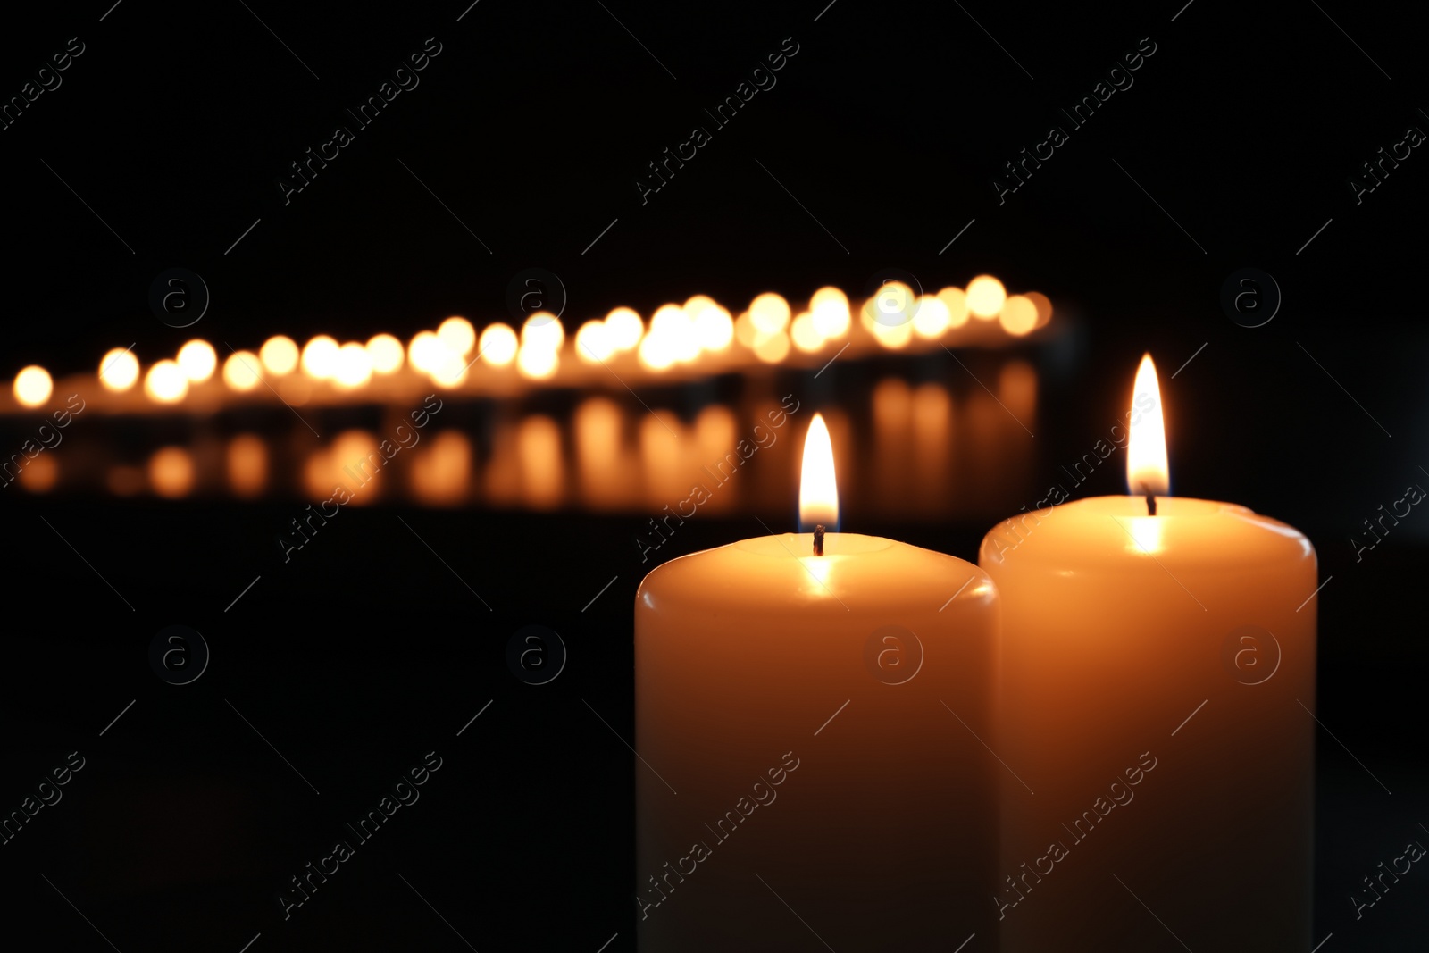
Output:
M1017 359L983 374L990 390L969 386L955 393L945 383L889 376L843 394L836 407L819 407L833 431L850 512L935 517L1015 503L1026 487L1006 474L1032 469L1030 460L1009 464L1032 453L1022 423L1035 426L1037 376ZM702 484L710 497L700 512L712 514L789 506L796 449L813 407L795 410L780 429L769 424L780 401L767 386L750 389L735 406L710 403L683 417L633 404L594 394L569 413L509 409L484 423L446 410L390 461L379 454L379 441L406 421L397 409L327 437L292 420L274 433L230 426L229 419L190 424L179 440L149 447L109 430L71 431L63 450L29 460L17 484L30 493L313 502L343 486L356 504L406 500L652 516ZM327 420L319 423L329 430ZM746 467L736 451L740 441L749 459L757 457L755 466Z

